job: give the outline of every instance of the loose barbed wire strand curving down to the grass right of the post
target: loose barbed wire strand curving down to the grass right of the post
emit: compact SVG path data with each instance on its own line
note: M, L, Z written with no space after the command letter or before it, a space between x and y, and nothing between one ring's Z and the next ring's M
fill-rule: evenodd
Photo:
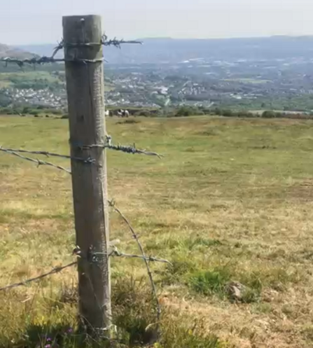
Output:
M151 272L151 269L150 269L150 266L149 266L149 263L148 263L148 259L147 259L146 253L144 252L144 248L141 245L139 237L138 237L137 233L135 232L134 228L132 227L130 221L128 221L128 219L122 213L122 211L120 211L120 209L118 209L118 207L116 207L116 204L115 204L114 200L109 200L108 202L109 202L109 206L112 207L120 215L121 218L123 218L123 221L126 223L128 228L130 228L130 232L132 233L132 237L136 240L137 245L139 247L139 250L141 252L141 256L142 256L142 258L144 260L144 263L146 265L146 270L148 272L148 278L150 280L152 293L153 293L153 296L155 298L155 305L156 305L156 309L157 309L157 321L156 321L157 322L157 328L156 328L156 331L158 332L159 325L160 325L160 317L161 317L161 305L160 305L160 301L158 299L158 293L156 291L156 286L155 286L155 283L154 283L154 280L153 280L153 275L152 275L152 272Z

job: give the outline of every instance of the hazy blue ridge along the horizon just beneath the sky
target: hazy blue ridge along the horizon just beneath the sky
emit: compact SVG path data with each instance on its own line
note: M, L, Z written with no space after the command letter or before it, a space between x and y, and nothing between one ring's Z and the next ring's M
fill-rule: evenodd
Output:
M313 59L313 36L272 36L247 39L141 39L144 45L104 48L111 64L176 64L188 60ZM19 46L38 55L51 55L55 45ZM62 56L62 52L59 53Z

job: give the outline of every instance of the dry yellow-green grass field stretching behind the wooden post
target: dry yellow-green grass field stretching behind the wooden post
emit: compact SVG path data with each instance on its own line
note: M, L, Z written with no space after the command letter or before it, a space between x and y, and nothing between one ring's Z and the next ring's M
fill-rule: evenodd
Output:
M312 121L135 120L109 119L113 141L165 157L110 152L109 194L146 252L173 263L151 265L166 316L164 342L154 347L313 347ZM1 117L1 145L68 153L67 127ZM0 153L0 193L0 286L73 260L70 176ZM112 212L116 238L137 253ZM115 295L125 284L130 293L127 279L148 284L140 260L113 260L112 272ZM45 347L36 345L39 332L75 327L75 285L70 269L0 293L0 347ZM174 317L183 328L197 319L197 329L180 336Z

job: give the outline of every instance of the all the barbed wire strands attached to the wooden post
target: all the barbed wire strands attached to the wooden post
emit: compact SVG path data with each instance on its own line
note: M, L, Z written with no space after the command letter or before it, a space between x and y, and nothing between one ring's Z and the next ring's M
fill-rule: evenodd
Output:
M69 20L69 18L67 18L67 19ZM96 18L94 18L94 20L96 20ZM85 19L81 18L81 22L83 23L83 36L85 38L85 27L84 27ZM89 25L90 25L90 23L89 23ZM99 37L99 36L96 36L96 37ZM80 41L80 40L78 40L78 41ZM85 41L85 39L83 39L83 41ZM125 44L125 43L139 43L140 44L141 42L108 39L108 37L104 34L99 42L65 43L64 40L62 40L60 43L58 43L57 47L53 51L53 55L51 55L50 57L46 57L46 56L38 57L37 56L37 57L33 57L30 59L24 59L24 60L19 60L19 59L12 58L12 57L4 57L4 58L0 59L0 62L5 62L6 65L8 63L18 64L18 66L21 68L25 64L36 65L36 64L50 64L50 63L60 63L60 62L73 62L73 63L78 63L78 64L85 64L87 67L88 63L104 62L104 58L103 57L98 58L97 55L94 55L94 56L91 55L91 57L95 57L95 59L76 58L76 55L74 55L74 58L72 58L69 54L67 54L68 53L67 48L83 48L83 47L85 47L85 48L88 48L88 47L89 48L90 47L99 48L99 46L115 46L116 48L120 48L120 45ZM57 55L57 52L61 49L65 50L64 58L55 58L55 55ZM84 57L84 55L83 55L83 57ZM87 55L87 57L90 57L90 56ZM98 112L97 117L101 118L101 113L99 114L99 112ZM104 115L103 115L103 117L104 117ZM162 157L162 155L159 155L158 153L155 153L152 151L140 150L140 149L136 148L135 145L125 146L125 145L120 145L120 144L118 144L118 145L112 144L112 137L109 135L106 135L104 144L71 144L71 147L74 149L76 148L76 150L80 150L80 151L91 150L92 148L102 148L102 149L107 148L109 150L120 151L120 152L124 152L124 153L128 153L128 154L151 155L151 156L157 156L158 158ZM22 148L13 149L13 148L4 148L3 146L0 146L0 151L2 151L4 153L8 153L9 155L14 155L22 160L34 162L38 166L39 165L48 165L50 167L55 167L56 169L61 169L62 171L67 172L68 174L71 174L71 171L69 169L66 169L60 165L55 165L51 162L47 162L44 160L30 158L30 157L27 157L25 155L22 155L21 153L28 153L28 154L32 154L32 155L45 155L46 157L51 156L51 157L64 158L67 160L74 160L76 162L81 162L81 163L86 164L86 165L94 165L96 162L96 160L94 158L90 158L90 157L88 157L88 158L73 157L71 155L61 155L59 153L50 153L49 151L28 151L28 150L25 150ZM105 167L105 164L104 164L104 167ZM96 251L94 251L93 246L90 245L88 252L85 255L81 251L80 246L76 246L76 248L73 251L73 255L75 255L77 258L85 259L87 262L84 263L84 265L88 265L88 263L96 263L96 264L99 263L99 265L103 265L103 263L101 263L101 257L105 257L105 258L110 258L110 257L136 258L136 259L144 260L144 263L146 265L146 270L148 273L148 278L149 278L149 281L151 283L152 294L153 294L153 297L155 298L155 305L156 305L156 312L157 312L157 321L155 324L157 325L157 331L158 331L159 325L160 325L161 307L160 307L160 302L158 300L158 294L156 291L155 282L153 281L153 275L152 275L149 263L150 262L168 263L168 264L171 264L171 263L168 260L165 260L162 258L155 258L153 256L147 256L146 253L144 252L144 248L141 245L141 242L139 241L139 237L138 237L137 233L134 231L134 228L130 224L130 221L125 217L125 215L120 211L120 209L118 209L118 207L116 207L116 204L113 200L109 201L109 206L112 207L114 209L114 211L116 211L120 215L120 217L123 219L123 221L126 223L128 228L130 229L130 232L132 233L132 237L137 242L137 245L139 247L139 251L140 251L141 255L123 253L123 252L119 251L115 245L111 244L111 242L109 242L109 246L110 246L111 250L107 251L106 253L96 252ZM77 233L77 231L76 231L76 233ZM15 284L10 284L8 286L3 286L0 288L0 291L10 290L12 288L17 288L18 286L25 286L33 281L39 281L43 278L49 277L50 275L62 272L63 270L66 270L69 267L73 267L74 265L78 265L78 260L76 260L75 262L69 263L67 265L63 265L60 267L54 267L53 270L51 270L50 272L43 273L43 274L39 275L38 277L30 278L30 279L27 279L25 281L20 281L20 282L15 283ZM86 272L86 274L88 275L88 277L90 277L90 274L88 274L88 271ZM92 286L91 293L93 293L95 295L96 300L98 300L97 293L95 292L95 288L93 288L93 284L92 284L91 279L90 279L90 283ZM98 305L99 305L99 303L98 303ZM102 308L100 310L102 310ZM111 313L110 309L108 310L108 314L109 314L109 312ZM106 319L106 317L104 317L104 319ZM95 329L102 330L102 332L109 330L108 328L99 328L99 329L95 328ZM108 337L108 339L111 340L111 338L109 338L109 337Z

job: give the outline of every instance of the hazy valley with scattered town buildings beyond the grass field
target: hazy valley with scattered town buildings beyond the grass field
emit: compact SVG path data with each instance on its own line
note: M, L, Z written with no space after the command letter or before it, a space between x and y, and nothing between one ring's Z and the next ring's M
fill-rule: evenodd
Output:
M197 44L193 50L181 48L183 43L178 41L176 46L181 46L176 51L168 51L163 47L165 43L153 41L154 46L148 45L141 53L125 50L127 62L120 50L109 51L111 59L104 67L106 105L312 113L313 56L305 39L247 40L239 40L237 46L235 40L228 44L221 41L225 47L207 41L206 45L215 45L211 50L202 41L186 41L190 47ZM155 53L155 45L160 46L160 53ZM158 62L155 55L160 57ZM134 62L135 58L139 62ZM60 64L39 67L37 73L5 71L1 68L4 74L0 74L0 106L67 109L64 69Z

